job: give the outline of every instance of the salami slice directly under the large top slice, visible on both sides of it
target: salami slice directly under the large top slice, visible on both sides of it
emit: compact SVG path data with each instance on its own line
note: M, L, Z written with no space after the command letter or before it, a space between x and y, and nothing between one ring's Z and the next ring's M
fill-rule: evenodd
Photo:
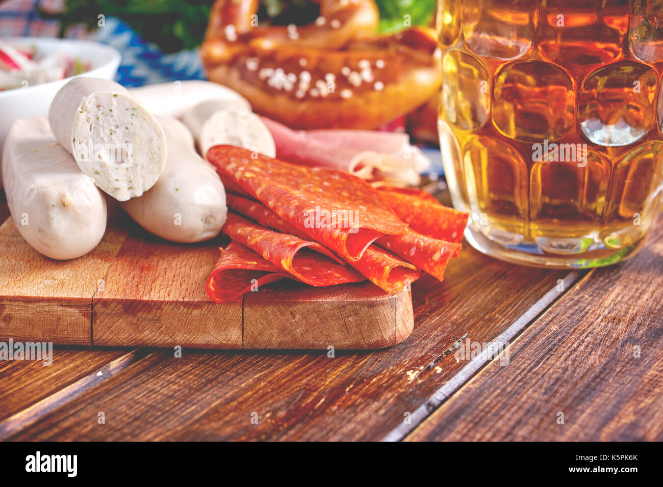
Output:
M291 233L292 235L298 233L298 230L294 229L290 223L281 219L259 201L253 201L232 193L227 194L227 201L230 209L257 221L265 227ZM347 262L373 284L387 292L400 289L409 282L414 282L420 275L420 271L414 265L403 262L391 252L387 252L376 245L370 245L359 260L347 259Z

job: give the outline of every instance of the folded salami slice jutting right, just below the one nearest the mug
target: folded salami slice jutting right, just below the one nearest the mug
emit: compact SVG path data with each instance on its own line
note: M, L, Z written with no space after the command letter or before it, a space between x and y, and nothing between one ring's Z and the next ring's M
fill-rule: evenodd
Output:
M442 281L449 259L460 255L461 244L432 239L408 229L400 235L385 235L377 244Z

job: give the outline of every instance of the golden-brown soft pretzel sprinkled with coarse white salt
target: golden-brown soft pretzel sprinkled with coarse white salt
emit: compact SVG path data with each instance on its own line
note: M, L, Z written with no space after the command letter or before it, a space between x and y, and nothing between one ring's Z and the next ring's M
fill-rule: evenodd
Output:
M255 24L257 0L217 0L201 48L208 78L298 129L375 129L438 91L432 30L377 35L373 0L318 3L314 23L282 27Z

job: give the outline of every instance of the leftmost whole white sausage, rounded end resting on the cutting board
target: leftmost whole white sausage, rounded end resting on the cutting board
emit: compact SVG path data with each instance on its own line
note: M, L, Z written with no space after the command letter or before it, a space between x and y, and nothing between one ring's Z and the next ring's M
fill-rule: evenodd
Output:
M34 250L66 260L97 246L106 229L105 197L56 142L44 117L15 121L2 166L9 210Z

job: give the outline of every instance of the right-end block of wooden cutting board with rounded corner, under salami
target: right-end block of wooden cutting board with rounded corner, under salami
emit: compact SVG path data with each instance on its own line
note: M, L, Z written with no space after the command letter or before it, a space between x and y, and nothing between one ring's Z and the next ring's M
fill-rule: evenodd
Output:
M381 349L412 333L408 289L368 282L313 288L280 282L244 298L245 349Z

